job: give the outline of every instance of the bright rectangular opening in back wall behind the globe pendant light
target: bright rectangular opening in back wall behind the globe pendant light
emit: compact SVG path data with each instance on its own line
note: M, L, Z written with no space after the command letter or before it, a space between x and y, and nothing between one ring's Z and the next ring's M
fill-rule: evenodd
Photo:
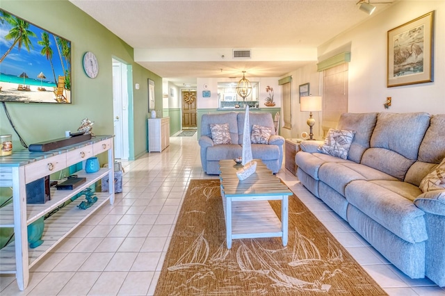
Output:
M220 108L234 108L239 106L243 108L246 104L255 108L259 106L259 82L250 82L252 92L243 100L236 93L236 82L218 82L218 101Z

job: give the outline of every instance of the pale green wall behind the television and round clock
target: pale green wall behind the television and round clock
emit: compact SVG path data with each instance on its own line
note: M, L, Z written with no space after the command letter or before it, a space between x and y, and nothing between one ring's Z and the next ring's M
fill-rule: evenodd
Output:
M72 104L6 104L26 143L63 138L65 131L76 131L85 117L95 122L94 133L113 134L112 58L117 58L132 70L129 87L140 84L139 90L129 91L129 156L134 159L144 154L147 151L147 79L155 82L156 106L160 108L162 79L134 63L133 48L67 0L1 0L1 8L72 42ZM82 59L86 51L92 51L99 62L95 79L89 79L83 72ZM8 133L13 134L13 150L24 149L4 111L0 110L0 134Z

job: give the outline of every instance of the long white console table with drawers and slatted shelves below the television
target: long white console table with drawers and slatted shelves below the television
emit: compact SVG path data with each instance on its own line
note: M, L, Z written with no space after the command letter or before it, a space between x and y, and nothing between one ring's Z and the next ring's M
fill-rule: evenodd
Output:
M51 188L51 200L44 204L26 204L26 184L53 174L65 167L85 161L91 156L108 152L108 167L99 172L87 174L85 170L76 172L87 181L74 190ZM96 192L97 202L86 210L77 208L83 200L72 202L51 215L44 222L42 240L44 243L35 249L28 247L27 227L40 217L58 208L68 199L99 181L104 176L114 177L113 135L96 135L95 138L47 152L14 151L10 156L0 158L0 186L13 188L13 203L0 208L0 227L14 228L15 241L0 250L0 273L16 274L20 290L29 282L29 269L63 238L71 233L102 204L114 202L114 184L110 182L108 192Z

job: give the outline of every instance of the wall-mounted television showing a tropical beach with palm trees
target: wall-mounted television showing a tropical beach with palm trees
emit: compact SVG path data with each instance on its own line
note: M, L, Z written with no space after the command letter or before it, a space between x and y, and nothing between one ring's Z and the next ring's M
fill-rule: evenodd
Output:
M71 103L71 42L0 9L0 101Z

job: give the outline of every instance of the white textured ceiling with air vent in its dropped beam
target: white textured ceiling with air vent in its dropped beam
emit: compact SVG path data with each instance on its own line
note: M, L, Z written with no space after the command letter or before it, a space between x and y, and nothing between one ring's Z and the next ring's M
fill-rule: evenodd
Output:
M225 60L220 55L210 60L193 55L189 60L175 59L175 51L168 58L156 54L149 59L135 58L177 84L196 77L240 76L241 69L254 76L282 76L308 60L298 55L283 58L279 49L316 52L319 45L370 17L359 10L357 0L70 1L133 47L135 56L144 49L159 53L165 49L227 49L230 53ZM390 4L373 5L378 13ZM233 60L232 49L252 49L252 60ZM254 60L255 49L268 49L270 59Z

